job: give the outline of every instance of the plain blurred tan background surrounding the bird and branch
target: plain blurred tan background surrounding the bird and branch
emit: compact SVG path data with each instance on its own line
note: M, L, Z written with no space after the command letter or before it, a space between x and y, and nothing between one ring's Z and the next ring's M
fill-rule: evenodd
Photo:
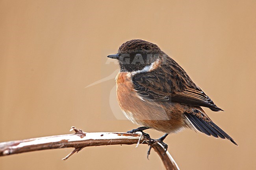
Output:
M171 55L225 112L208 115L230 141L192 130L166 139L181 170L256 169L256 2L0 1L0 141L68 133L126 132L109 106L115 71L106 56L133 38ZM115 100L115 97L111 98ZM119 113L121 111L119 110ZM148 130L152 137L163 133ZM1 170L160 170L147 146L46 150L0 158Z

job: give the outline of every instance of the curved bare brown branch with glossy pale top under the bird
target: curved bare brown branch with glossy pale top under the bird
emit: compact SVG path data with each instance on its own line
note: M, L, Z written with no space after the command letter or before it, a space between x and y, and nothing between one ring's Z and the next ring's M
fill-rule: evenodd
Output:
M75 148L63 160L68 159L75 152L79 152L87 146L102 146L113 144L148 144L147 139L137 133L120 133L120 132L94 132L87 133L72 127L74 134L54 135L47 137L38 137L17 141L9 141L0 143L0 156L11 154L20 154L23 152L31 152L46 149L58 148ZM174 159L169 152L165 152L165 148L158 142L154 141L150 144L152 148L160 156L167 170L179 170ZM137 147L137 146L136 146Z

